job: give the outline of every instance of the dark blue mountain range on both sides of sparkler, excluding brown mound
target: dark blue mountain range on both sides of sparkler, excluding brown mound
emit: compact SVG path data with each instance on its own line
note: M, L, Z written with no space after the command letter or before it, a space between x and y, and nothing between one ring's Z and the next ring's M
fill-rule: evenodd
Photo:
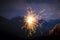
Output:
M14 36L18 38L27 38L27 30L21 29L21 27L24 26L24 17L14 17L11 20L8 20L4 17L0 16L0 32L1 36L7 35L8 36ZM50 21L45 21L45 20L39 20L39 23L42 24L42 27L38 27L36 30L36 33L33 35L33 38L35 37L41 37L43 35L47 35L48 32L54 28L54 26L58 23L60 23L60 19L56 20L50 20ZM35 36L35 37L34 37Z

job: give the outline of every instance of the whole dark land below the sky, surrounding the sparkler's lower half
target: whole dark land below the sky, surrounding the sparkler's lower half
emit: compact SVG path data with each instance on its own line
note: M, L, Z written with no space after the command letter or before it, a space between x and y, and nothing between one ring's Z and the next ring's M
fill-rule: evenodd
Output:
M50 39L58 39L60 36L60 29L55 28L54 31L49 35L49 32L45 32L44 28L54 28L55 26L60 27L60 20L50 20L46 22L45 20L39 20L39 23L42 23L42 28L37 28L36 33L33 34L31 38L27 37L27 30L21 29L24 26L23 17L15 17L11 20L8 20L4 17L0 16L0 39L16 39L16 40L50 40ZM48 30L48 29L47 29ZM42 31L43 34L39 33ZM56 35L55 35L56 33ZM58 36L58 38L57 38Z

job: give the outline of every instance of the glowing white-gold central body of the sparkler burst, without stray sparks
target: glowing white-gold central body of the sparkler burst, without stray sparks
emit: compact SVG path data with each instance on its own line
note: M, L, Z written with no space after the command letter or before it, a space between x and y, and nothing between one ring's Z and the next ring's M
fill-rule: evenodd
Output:
M35 33L36 27L38 27L38 15L32 10L27 11L27 15L24 16L25 28L28 30L28 36L32 36Z

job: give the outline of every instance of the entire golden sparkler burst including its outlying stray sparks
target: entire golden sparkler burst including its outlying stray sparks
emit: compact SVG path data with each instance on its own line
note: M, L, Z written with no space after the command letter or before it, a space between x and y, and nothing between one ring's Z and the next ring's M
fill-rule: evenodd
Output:
M45 9L43 11L45 11ZM24 16L25 25L22 27L22 29L27 29L28 37L36 33L37 27L42 27L42 24L38 22L39 20L41 20L41 16L36 14L32 8L28 8L27 15Z

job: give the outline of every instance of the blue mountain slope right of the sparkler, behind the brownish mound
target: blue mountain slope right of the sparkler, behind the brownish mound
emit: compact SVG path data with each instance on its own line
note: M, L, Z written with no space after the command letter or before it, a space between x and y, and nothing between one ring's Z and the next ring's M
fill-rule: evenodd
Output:
M49 35L49 31L52 30L56 24L60 23L60 19L49 20L48 22L42 19L42 20L39 20L39 23L42 24L42 27L37 28L35 35L47 36Z

